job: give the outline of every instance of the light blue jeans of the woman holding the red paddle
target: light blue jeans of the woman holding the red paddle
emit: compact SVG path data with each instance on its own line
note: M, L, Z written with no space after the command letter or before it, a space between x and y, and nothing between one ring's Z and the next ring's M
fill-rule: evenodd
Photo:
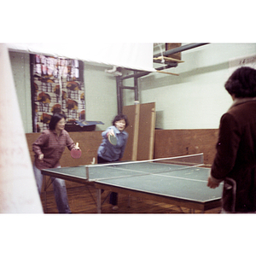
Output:
M40 195L43 184L43 174L35 165L33 165L33 170L37 181L38 193ZM55 201L59 213L71 213L67 199L67 189L65 180L57 177L50 178L53 183Z

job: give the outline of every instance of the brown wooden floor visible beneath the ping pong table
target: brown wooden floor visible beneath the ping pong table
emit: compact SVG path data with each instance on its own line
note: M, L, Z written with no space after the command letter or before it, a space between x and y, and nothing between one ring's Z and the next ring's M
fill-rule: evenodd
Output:
M96 213L96 189L90 187L68 188L67 195L69 205L73 213ZM102 194L102 198L108 195L108 191ZM43 207L45 207L44 193L41 195ZM112 210L108 204L108 199L102 205L102 213L189 213L189 209L185 207L172 206L166 203L145 200L131 196L129 207L129 199L127 195L119 194L119 209ZM220 207L209 210L205 213L218 213ZM52 191L47 192L47 208L44 213L58 213L55 205L55 198ZM200 213L195 211L195 213Z

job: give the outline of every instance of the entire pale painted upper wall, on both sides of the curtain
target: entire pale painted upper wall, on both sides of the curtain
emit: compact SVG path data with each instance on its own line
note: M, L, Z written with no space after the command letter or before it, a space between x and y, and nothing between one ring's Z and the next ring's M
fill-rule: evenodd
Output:
M173 76L151 73L139 79L141 103L156 103L156 128L217 129L221 115L232 103L224 90L230 76L229 61L256 55L256 44L207 44L182 52L184 63L168 71ZM29 55L10 53L25 131L32 132ZM158 67L157 65L154 65ZM85 64L86 119L102 121L96 130L104 130L117 114L115 77L106 67ZM133 79L124 85L133 86ZM134 104L133 90L124 91L124 104Z

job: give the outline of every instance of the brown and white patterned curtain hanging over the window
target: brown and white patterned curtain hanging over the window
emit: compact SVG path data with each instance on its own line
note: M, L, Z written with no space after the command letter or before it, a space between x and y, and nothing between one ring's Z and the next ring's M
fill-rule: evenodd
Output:
M33 131L49 128L54 113L85 120L83 61L32 55Z

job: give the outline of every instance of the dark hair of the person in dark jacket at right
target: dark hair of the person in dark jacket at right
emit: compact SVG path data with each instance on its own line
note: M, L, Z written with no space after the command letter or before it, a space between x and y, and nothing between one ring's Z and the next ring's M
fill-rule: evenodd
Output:
M231 74L224 84L230 95L236 98L256 96L256 70L252 67L240 67Z

